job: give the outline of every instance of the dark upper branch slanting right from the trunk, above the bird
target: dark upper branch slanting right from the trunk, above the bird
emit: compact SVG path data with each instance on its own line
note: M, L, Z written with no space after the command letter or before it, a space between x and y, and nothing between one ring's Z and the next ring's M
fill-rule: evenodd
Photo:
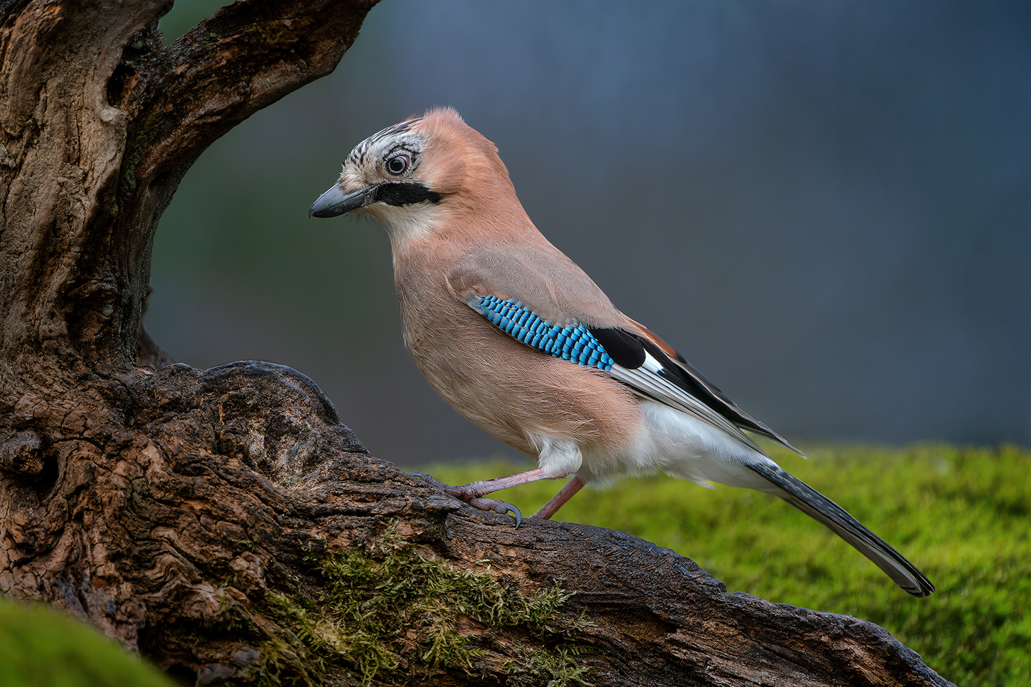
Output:
M136 174L179 167L231 128L336 67L377 0L237 2L151 53L126 109L138 113Z

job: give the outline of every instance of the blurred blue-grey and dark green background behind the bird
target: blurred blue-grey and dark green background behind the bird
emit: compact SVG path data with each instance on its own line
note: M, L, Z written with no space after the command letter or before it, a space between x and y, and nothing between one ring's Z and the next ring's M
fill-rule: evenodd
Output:
M178 0L166 42L219 2ZM453 105L617 307L794 443L1031 444L1031 4L384 0L330 76L187 175L146 327L310 376L402 466L517 453L401 341L383 231L306 219Z

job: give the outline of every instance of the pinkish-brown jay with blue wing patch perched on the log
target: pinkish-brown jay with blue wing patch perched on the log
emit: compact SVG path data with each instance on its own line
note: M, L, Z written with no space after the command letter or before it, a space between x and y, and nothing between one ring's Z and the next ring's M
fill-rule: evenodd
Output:
M359 143L309 217L367 215L390 238L404 342L456 410L537 467L446 485L485 511L500 489L571 477L532 517L585 484L664 472L774 494L823 523L913 596L934 585L912 563L774 462L750 435L799 452L737 407L672 346L618 310L537 230L497 147L452 107Z

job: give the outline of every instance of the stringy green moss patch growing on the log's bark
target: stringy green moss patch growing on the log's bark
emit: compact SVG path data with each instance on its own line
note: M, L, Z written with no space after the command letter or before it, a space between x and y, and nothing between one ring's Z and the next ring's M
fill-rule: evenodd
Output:
M322 594L277 593L269 602L303 644L313 675L335 664L363 684L439 669L472 676L489 638L508 631L519 638L509 646L523 652L511 662L513 675L588 684L587 668L573 659L575 645L547 624L570 596L559 587L523 594L408 544L393 525L368 551L309 552L308 562ZM478 631L470 629L477 624Z

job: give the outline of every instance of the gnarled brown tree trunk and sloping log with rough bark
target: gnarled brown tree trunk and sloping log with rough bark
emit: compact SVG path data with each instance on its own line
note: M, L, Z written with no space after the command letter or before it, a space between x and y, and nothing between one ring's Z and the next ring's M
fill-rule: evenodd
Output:
M190 684L949 684L865 621L471 511L289 368L166 365L141 320L176 185L372 4L238 1L169 47L164 0L0 4L0 590Z

